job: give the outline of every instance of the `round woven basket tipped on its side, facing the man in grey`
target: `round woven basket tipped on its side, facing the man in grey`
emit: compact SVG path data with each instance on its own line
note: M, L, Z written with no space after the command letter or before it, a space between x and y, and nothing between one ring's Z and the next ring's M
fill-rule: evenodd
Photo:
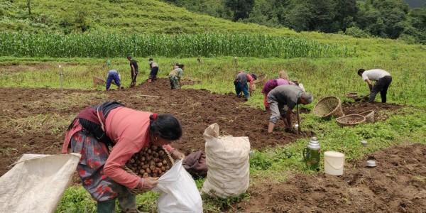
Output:
M324 97L317 104L315 104L312 113L322 118L329 118L330 116L344 116L342 109L342 102L338 97L329 96Z

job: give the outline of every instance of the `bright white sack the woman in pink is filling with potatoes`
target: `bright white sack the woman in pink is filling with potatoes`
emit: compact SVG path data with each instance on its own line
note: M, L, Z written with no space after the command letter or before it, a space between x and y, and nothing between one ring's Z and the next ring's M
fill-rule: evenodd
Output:
M202 212L200 192L190 173L183 168L182 160L158 179L157 187L153 190L160 192L157 200L159 213Z

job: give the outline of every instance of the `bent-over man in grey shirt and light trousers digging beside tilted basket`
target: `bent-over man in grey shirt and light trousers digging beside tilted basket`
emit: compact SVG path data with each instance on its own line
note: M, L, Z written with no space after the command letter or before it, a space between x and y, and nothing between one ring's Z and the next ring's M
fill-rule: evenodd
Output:
M310 104L314 97L309 92L303 92L302 88L296 85L281 85L272 89L268 94L268 104L271 109L268 133L273 131L278 120L283 118L285 132L292 132L291 113L298 104ZM298 113L298 112L297 112Z

